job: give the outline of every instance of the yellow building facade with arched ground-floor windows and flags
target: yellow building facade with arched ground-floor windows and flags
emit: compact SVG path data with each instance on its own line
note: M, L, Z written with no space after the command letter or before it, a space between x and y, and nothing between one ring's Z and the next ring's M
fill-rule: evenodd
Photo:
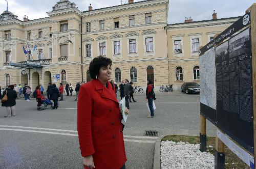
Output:
M168 25L168 0L84 12L60 0L47 14L23 21L9 11L0 15L0 86L87 82L91 60L101 55L113 61L117 83L127 78L146 87L152 79L156 90L170 83L180 89L185 81L200 82L198 46L238 19Z

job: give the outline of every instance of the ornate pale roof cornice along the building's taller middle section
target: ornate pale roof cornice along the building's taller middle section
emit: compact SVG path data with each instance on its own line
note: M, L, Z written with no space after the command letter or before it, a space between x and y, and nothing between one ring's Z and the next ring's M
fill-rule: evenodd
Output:
M125 6L115 6L110 8L97 9L93 11L86 11L85 13L82 13L82 16L84 17L84 16L90 16L90 15L101 15L104 13L112 13L116 11L131 10L136 8L145 8L148 6L156 6L156 5L162 5L162 4L166 4L165 6L168 6L168 0L145 1L141 3L132 3Z

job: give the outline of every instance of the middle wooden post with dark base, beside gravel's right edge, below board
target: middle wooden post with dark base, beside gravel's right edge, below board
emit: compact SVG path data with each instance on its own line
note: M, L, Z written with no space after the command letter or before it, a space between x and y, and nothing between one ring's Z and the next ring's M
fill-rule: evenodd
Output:
M217 132L216 132L217 133ZM224 169L225 168L225 151L224 143L216 135L215 139L215 169Z

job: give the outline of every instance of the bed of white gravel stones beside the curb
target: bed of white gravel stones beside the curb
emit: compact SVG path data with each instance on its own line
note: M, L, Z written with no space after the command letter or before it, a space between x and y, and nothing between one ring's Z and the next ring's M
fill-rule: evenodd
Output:
M199 144L161 142L161 169L214 168L214 155L199 148Z

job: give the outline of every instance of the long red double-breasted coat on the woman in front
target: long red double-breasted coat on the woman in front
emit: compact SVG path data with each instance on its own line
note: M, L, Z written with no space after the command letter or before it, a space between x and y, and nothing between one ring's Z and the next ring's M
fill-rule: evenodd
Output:
M93 155L96 169L120 169L126 161L116 94L96 79L80 87L77 131L83 157ZM87 167L86 167L87 168Z

